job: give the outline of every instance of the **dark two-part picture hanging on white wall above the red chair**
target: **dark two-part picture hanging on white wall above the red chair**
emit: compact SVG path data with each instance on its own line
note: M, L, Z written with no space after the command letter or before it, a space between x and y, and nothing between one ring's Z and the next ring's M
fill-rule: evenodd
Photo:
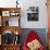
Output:
M27 21L38 21L38 20L39 20L38 7L29 7L27 10Z

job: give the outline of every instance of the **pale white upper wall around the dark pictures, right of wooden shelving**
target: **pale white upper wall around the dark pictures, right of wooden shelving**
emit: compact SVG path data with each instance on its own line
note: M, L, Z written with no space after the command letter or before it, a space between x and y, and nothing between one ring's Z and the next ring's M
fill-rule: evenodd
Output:
M23 0L23 12L22 12L22 25L24 28L47 28L47 8L46 0ZM27 22L27 8L28 7L39 7L39 21L38 22Z

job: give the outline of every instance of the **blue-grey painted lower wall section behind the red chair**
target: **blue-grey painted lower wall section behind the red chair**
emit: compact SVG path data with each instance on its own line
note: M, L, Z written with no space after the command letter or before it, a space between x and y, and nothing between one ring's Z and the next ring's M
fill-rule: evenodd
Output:
M30 30L35 30L37 33L37 35L39 35L42 45L46 47L47 46L46 28L23 28L22 29L22 34L21 34L21 42L22 42L22 46L23 46L23 43L24 43L24 41L26 39L27 34Z

